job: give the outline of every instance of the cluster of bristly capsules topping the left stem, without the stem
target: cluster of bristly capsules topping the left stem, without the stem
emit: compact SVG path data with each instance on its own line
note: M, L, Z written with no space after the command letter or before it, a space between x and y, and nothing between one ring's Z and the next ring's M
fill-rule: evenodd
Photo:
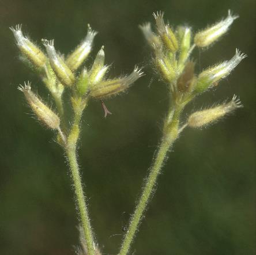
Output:
M46 52L43 52L28 37L23 35L21 25L16 25L15 28L10 29L16 39L22 58L27 60L30 66L36 69L42 81L50 90L57 106L59 118L61 119L59 122L62 121L64 115L62 94L66 88L70 89L71 93L73 93L71 102L74 111L78 110L76 106L79 106L79 110L82 111L89 98L103 100L103 98L115 96L125 91L143 75L140 68L135 66L130 75L107 79L106 74L110 66L104 64L105 53L103 46L97 53L91 68L82 67L82 64L92 51L93 39L97 35L97 32L93 31L89 25L85 39L66 58L55 50L54 40L42 39L43 45L46 48ZM48 127L57 128L55 126L52 127L48 119L52 118L52 121L56 122L58 115L31 91L31 83L25 84L24 87L20 86L19 89L24 92L25 98L39 119ZM59 127L60 124L58 124Z

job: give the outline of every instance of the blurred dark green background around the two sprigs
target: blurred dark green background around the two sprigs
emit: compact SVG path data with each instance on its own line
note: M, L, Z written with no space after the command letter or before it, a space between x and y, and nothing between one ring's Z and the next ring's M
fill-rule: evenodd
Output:
M194 51L198 70L245 52L230 77L187 107L187 113L237 94L235 115L202 130L186 130L165 163L131 254L255 254L255 1L0 1L0 254L74 254L78 224L69 169L50 130L35 121L18 83L30 80L50 100L39 78L18 59L9 26L22 23L32 39L55 39L67 54L99 31L88 64L102 44L111 77L135 64L146 76L129 93L91 102L83 119L80 165L93 229L103 254L116 254L161 137L167 89L152 74L138 24L156 10L194 31L239 14L227 36ZM67 105L69 107L69 105ZM186 116L185 116L186 117Z

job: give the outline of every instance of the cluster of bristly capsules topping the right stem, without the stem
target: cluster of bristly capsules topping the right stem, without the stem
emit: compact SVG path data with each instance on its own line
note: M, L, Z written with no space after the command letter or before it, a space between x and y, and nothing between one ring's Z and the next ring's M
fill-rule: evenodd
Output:
M246 58L246 55L236 50L230 60L206 68L200 74L195 74L195 63L190 60L191 52L195 47L205 48L219 40L238 16L233 16L229 10L227 18L195 33L194 39L189 26L178 26L174 29L170 24L165 24L163 12L154 13L153 16L156 21L156 32L153 32L150 23L141 25L140 28L153 50L153 63L156 70L161 79L168 84L170 90L170 118L167 118L167 123L165 123L168 126L175 109L183 109L195 96L216 86L221 79L231 73L242 59ZM233 102L233 107L228 108L229 111L239 105L237 100L231 102ZM217 109L222 109L223 113L229 112L225 111L225 104L219 105ZM198 124L191 125L191 120L194 122L198 119L195 118L195 115L191 116L189 126L199 127L211 123L212 119L219 119L223 116L223 114L214 115L216 111L210 111L210 109L207 112L204 111L203 116L207 114L209 118L206 117L205 121L199 121ZM209 121L207 122L206 119ZM199 123L203 124L199 125Z

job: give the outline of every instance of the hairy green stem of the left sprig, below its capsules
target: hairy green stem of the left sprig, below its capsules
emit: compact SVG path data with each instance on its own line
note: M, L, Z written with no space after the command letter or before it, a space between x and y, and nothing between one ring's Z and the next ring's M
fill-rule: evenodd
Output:
M78 204L78 211L80 216L80 222L82 229L84 230L85 242L88 255L95 255L95 245L93 241L93 233L91 228L91 223L88 215L88 210L86 207L85 196L82 190L82 181L79 171L79 166L77 163L77 140L80 133L80 120L82 116L82 110L76 111L74 116L74 122L70 130L69 137L67 138L66 144L66 154L69 160L69 165L71 169L71 175L74 182L74 192L76 195L76 200Z

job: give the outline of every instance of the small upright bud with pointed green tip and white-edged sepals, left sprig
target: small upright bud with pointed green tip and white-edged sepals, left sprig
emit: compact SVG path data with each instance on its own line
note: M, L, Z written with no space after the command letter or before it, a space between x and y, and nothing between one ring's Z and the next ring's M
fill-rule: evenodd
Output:
M104 46L101 47L100 51L94 60L91 70L89 71L89 83L95 84L103 79L104 75L110 66L104 66L105 52Z

